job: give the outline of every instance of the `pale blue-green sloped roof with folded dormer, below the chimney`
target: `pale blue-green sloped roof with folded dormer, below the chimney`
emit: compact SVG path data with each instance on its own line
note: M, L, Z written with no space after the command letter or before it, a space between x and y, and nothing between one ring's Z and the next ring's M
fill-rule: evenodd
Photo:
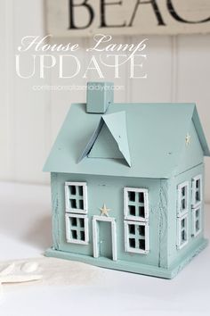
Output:
M72 104L44 171L168 179L179 166L191 121L209 156L195 104L110 104L102 116ZM126 164L88 157L104 123L116 141L123 133L117 145Z

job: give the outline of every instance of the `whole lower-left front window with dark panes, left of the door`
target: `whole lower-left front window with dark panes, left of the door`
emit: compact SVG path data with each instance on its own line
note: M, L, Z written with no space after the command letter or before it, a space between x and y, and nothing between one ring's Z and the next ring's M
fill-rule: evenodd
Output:
M69 243L88 243L88 221L86 215L66 213L66 236Z

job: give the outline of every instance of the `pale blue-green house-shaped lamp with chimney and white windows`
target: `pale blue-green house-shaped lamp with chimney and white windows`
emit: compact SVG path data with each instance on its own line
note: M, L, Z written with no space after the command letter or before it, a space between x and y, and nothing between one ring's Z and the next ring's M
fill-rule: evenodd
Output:
M111 83L89 83L44 166L46 255L173 278L206 246L205 155L195 104L114 104Z

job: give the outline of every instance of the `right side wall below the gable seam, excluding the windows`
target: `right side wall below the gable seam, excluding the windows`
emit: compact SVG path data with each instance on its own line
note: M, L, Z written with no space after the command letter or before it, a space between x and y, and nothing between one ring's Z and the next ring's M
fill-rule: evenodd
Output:
M202 202L202 230L197 237L192 236L192 210L191 210L191 180L192 178L202 175L204 187L204 163L200 163L198 166L191 168L182 174L170 179L168 181L169 187L169 199L168 199L168 264L172 266L177 262L181 262L182 259L190 254L192 250L198 247L203 236L203 227L204 227L204 202ZM185 181L189 181L189 241L188 244L183 246L182 249L177 248L177 187L179 184L182 184Z

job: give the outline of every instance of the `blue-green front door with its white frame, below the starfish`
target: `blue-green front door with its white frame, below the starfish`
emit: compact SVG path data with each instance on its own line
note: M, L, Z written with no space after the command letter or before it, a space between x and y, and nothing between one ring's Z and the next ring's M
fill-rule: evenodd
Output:
M107 216L93 216L93 256L117 260L116 222Z

